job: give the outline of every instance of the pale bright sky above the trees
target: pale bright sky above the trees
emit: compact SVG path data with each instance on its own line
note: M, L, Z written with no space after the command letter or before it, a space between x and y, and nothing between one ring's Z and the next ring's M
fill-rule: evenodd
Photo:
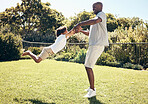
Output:
M148 0L41 0L51 3L51 8L69 18L76 14L92 11L92 4L95 2L103 3L103 11L119 17L139 17L148 20ZM6 8L15 7L21 0L0 0L0 12Z

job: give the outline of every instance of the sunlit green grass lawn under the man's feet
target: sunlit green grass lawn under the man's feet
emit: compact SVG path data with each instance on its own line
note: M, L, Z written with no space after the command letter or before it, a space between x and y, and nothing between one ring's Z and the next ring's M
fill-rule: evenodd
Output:
M0 62L1 104L148 104L148 71L95 66L97 96L83 64L45 60Z

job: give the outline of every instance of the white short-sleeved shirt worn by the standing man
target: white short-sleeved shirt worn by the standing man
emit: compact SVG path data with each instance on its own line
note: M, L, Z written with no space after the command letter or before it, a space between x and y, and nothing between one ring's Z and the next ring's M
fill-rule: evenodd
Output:
M95 18L100 17L102 22L90 26L89 45L109 46L108 33L106 27L106 15L104 12L99 12Z

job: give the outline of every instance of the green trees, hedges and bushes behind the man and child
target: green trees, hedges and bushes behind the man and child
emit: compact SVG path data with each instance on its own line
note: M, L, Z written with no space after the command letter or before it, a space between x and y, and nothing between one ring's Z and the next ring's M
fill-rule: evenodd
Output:
M110 46L105 49L97 64L146 69L148 64L147 20L139 17L118 18L111 13L106 13L106 15ZM26 50L29 48L35 54L39 54L42 47L54 43L55 30L58 27L65 25L70 30L77 23L91 19L95 15L92 11L82 10L75 16L66 18L62 12L52 9L50 2L22 0L20 4L17 3L16 7L6 8L4 12L1 12L0 17L0 60L6 61L20 59L22 48ZM84 26L83 29L87 30L89 26ZM78 33L70 37L68 43L65 50L53 58L84 63L88 37Z

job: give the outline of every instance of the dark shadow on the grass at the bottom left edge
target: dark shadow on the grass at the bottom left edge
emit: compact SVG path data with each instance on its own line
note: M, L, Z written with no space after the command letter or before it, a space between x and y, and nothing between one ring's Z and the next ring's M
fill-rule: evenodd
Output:
M32 104L56 104L56 103L45 103L45 102L39 101L37 99L17 99L17 98L15 98L13 100L18 103L31 102Z

